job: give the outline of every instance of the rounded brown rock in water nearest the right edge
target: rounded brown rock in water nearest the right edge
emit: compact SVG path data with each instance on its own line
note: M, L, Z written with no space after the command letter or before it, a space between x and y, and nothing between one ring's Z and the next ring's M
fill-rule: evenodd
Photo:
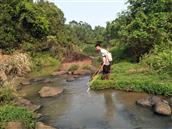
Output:
M155 104L154 111L157 114L170 116L171 115L171 107L164 102L159 102Z

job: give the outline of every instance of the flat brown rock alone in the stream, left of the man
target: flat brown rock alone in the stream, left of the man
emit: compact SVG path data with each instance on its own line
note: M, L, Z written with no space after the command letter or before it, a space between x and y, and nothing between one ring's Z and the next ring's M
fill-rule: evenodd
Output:
M62 88L45 86L39 91L39 94L41 97L53 97L61 94L63 91L64 89Z

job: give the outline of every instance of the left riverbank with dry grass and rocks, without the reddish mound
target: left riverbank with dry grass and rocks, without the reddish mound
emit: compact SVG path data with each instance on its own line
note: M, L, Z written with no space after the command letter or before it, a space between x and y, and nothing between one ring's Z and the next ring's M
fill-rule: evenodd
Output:
M41 105L24 99L18 90L29 78L50 75L59 64L57 59L45 53L37 53L34 57L20 52L0 54L0 129L43 126L37 123Z

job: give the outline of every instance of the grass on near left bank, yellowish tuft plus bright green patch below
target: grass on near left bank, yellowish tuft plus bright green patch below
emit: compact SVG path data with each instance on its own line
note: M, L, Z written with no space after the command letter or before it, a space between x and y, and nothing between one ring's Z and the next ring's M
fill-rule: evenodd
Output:
M17 98L14 87L6 84L0 87L0 129L4 129L8 122L20 121L26 128L34 128L36 119L34 114L24 107L14 106Z

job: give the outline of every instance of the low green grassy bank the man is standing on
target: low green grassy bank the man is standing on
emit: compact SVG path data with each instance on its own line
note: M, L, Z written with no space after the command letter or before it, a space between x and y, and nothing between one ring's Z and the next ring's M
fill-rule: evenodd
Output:
M91 89L113 88L117 90L147 92L172 95L172 79L168 74L157 74L150 68L128 62L112 65L109 80L101 80L101 75L91 82Z

